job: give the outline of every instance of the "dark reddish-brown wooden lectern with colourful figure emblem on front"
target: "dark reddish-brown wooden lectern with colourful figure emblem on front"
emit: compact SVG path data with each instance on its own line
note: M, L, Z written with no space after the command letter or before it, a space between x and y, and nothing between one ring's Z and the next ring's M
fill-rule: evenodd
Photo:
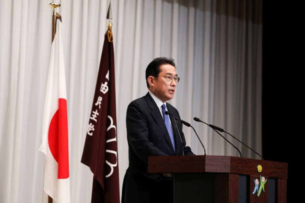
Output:
M174 203L287 202L288 163L235 156L150 156L148 172L173 175Z

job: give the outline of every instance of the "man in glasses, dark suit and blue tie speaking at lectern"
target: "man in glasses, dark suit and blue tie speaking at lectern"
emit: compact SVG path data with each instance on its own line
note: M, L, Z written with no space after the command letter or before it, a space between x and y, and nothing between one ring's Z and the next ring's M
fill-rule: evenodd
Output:
M127 107L129 166L123 181L122 203L172 203L173 177L147 173L147 163L149 156L194 155L186 146L179 112L167 103L174 98L180 78L174 60L165 57L150 62L145 75L149 92ZM163 104L163 112L171 115L162 112ZM168 129L173 133L167 130L166 116L171 123Z

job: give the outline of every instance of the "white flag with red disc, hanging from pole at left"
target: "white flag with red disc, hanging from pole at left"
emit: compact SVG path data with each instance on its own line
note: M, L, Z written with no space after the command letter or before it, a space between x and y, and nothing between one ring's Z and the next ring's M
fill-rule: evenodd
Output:
M45 94L42 143L39 150L45 154L43 201L47 200L45 197L49 195L53 202L70 203L66 76L61 21L57 20L56 24Z

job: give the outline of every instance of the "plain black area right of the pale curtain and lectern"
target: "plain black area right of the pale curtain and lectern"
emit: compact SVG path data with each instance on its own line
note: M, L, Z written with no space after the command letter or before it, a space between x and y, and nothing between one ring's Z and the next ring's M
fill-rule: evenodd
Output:
M288 163L287 202L294 202L305 189L303 21L298 5L274 4L263 5L262 156Z

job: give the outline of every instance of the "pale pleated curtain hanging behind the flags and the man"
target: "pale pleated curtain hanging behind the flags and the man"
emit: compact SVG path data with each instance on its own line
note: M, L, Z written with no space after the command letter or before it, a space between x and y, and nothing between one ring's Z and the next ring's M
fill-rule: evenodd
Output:
M92 173L81 163L108 20L109 0L65 0L62 16L69 124L71 202L91 201ZM51 51L51 1L0 0L0 202L41 202L42 115ZM262 0L112 0L120 190L128 166L125 116L147 92L155 57L175 59L170 101L207 155L239 156L203 123L224 128L262 152ZM203 148L192 128L187 144ZM260 158L223 134L243 157ZM121 193L121 192L120 192Z

